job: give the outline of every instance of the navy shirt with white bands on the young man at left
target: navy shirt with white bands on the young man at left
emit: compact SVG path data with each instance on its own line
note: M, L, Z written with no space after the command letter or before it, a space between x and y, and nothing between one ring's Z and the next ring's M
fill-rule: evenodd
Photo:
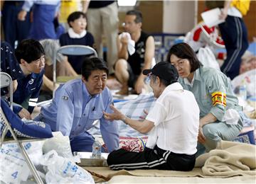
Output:
M18 86L14 92L14 103L26 108L29 113L33 112L38 101L41 86L43 84L44 69L40 74L29 74L23 79L18 79ZM21 111L21 107L14 106L14 113Z

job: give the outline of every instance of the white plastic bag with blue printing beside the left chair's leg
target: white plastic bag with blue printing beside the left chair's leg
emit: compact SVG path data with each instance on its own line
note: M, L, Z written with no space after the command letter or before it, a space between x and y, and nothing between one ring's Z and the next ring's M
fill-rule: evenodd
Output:
M43 155L42 164L48 169L46 183L95 183L90 173L70 159L58 156L55 150Z

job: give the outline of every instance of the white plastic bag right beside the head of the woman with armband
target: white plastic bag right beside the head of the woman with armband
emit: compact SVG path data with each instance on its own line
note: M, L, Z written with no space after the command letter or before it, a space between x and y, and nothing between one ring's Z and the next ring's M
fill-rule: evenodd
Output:
M203 64L203 67L220 70L220 65L218 64L213 52L210 50L209 47L201 47L198 51L197 57L199 61Z

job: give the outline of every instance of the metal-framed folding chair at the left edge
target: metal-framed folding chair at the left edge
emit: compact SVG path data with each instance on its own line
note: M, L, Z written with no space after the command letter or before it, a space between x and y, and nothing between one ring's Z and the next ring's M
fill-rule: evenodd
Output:
M11 105L12 105L12 102L13 102L13 83L12 83L11 76L9 76L9 74L1 72L0 73L0 78L1 78L1 84L0 84L1 88L7 87L7 86L9 86L9 88L10 88L9 94L10 94ZM31 142L31 141L35 141L37 139L19 140L16 137L16 134L14 133L14 130L12 129L9 121L7 120L6 115L4 115L4 111L2 110L1 107L0 107L0 120L3 123L3 125L4 125L4 131L1 134L0 147L1 147L2 144L7 144L7 143L15 142L18 145L18 148L21 149L21 154L24 156L24 159L25 159L26 163L28 164L28 168L30 169L31 173L33 174L34 178L36 179L36 183L43 183L43 180L39 176L38 171L36 171L36 168L33 165L33 162L28 157L26 149L24 148L24 146L22 144L22 142ZM8 130L11 132L11 135L14 138L14 140L13 141L6 141L6 142L4 142L4 138L5 138L6 133L8 132Z

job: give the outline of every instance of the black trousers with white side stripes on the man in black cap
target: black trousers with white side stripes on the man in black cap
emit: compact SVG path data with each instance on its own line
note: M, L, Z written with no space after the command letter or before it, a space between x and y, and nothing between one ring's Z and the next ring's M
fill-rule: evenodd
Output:
M107 164L112 170L159 169L172 171L191 171L195 166L196 154L175 154L155 146L142 152L124 149L112 151L107 157Z

